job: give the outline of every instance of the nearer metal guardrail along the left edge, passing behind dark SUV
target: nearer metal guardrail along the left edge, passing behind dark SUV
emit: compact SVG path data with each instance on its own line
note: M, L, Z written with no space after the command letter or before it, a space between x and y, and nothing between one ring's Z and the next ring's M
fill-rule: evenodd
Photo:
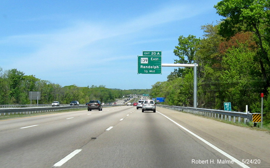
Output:
M22 105L20 105L22 106ZM51 105L50 105L51 106ZM111 106L122 106L122 105L102 105L103 107ZM26 108L0 108L0 115L10 115L10 114L31 114L39 112L51 112L51 111L61 111L70 109L86 109L86 105L79 106L59 106L59 107L26 107Z

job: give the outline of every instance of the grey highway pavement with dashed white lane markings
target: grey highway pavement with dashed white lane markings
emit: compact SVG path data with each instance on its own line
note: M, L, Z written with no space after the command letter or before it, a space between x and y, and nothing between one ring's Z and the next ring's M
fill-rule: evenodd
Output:
M242 164L237 154L221 149L218 143L211 142L210 136L204 138L202 131L196 133L190 126L192 121L186 125L190 128L186 128L186 121L181 121L174 113L179 114L160 107L156 113L142 112L135 106L124 105L103 107L102 111L44 113L3 120L0 121L0 168L269 165L264 158L261 164Z

